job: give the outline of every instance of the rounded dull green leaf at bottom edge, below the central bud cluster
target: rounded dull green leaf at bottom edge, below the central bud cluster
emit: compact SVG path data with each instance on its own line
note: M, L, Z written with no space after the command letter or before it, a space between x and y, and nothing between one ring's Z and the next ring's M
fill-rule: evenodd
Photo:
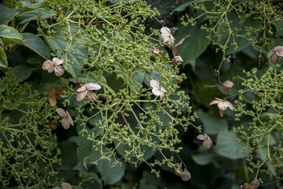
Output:
M112 162L114 161L115 159L111 157L111 161L101 160L98 162L97 168L103 178L104 185L120 181L125 174L125 163L122 162L122 165L116 165L115 167L112 167Z

